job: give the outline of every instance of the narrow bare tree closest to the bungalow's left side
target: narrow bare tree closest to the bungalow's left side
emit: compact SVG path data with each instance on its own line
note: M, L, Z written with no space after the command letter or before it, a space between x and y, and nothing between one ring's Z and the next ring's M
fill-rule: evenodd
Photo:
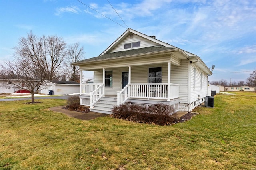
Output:
M71 65L76 61L80 61L84 58L84 48L80 47L79 42L68 47L67 58L65 62L66 72L68 73L68 78L70 81L80 82L80 70L79 66Z

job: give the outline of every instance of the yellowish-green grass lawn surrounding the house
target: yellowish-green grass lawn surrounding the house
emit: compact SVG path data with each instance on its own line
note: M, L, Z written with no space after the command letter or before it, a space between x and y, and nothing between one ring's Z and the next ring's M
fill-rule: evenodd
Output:
M256 95L216 95L215 108L157 126L49 111L65 100L0 102L0 170L248 169L256 167Z

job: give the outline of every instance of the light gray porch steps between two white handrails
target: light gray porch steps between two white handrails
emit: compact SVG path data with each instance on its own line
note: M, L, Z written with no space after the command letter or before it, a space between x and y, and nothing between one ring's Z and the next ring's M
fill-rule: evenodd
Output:
M97 103L94 104L94 107L90 110L93 112L111 114L113 107L116 105L116 97L102 97Z

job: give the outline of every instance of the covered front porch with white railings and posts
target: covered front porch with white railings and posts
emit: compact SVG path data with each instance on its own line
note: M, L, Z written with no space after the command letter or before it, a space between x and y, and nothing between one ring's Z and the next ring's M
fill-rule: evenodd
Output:
M150 68L160 68L160 71L150 74ZM110 70L113 70L113 75L109 74ZM180 85L171 83L171 62L144 65L144 68L130 65L118 68L102 68L94 72L94 83L80 84L80 103L90 106L91 109L94 109L98 103L106 105L110 100L112 100L110 102L112 106L126 102L167 103L168 105L180 102ZM99 78L101 79L99 80ZM111 99L106 99L106 97ZM105 101L102 102L102 100Z

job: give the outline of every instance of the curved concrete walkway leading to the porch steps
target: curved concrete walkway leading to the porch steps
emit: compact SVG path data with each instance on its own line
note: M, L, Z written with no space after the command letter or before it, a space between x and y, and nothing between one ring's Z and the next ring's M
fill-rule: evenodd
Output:
M51 108L49 108L49 110L64 113L68 117L74 117L74 118L82 119L82 120L91 120L91 119L96 119L96 118L102 117L102 116L108 116L108 114L97 113L97 112L81 113L81 112L76 112L76 111L69 111L66 109L62 109L63 107L66 107L66 106L51 107Z

